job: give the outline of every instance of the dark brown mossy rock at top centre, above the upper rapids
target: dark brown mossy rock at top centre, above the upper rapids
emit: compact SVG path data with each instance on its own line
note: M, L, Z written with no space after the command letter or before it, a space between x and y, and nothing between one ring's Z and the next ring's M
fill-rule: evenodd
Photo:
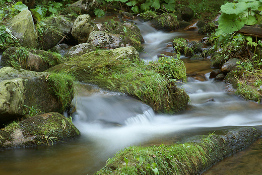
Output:
M152 21L152 26L157 30L175 30L178 29L178 20L175 14L163 14L157 16Z

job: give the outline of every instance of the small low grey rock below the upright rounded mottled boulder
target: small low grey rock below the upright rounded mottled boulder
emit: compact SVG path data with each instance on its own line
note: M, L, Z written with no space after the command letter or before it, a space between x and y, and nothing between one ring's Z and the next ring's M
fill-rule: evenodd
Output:
M65 58L72 58L74 56L80 56L88 52L95 50L95 47L91 44L82 43L72 47L67 53L65 53Z

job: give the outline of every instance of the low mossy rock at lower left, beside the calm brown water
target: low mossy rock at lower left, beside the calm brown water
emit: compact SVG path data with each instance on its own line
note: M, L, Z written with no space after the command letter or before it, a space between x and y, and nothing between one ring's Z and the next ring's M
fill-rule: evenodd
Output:
M0 150L54 144L77 138L79 130L72 120L59 113L45 113L13 122L0 129Z

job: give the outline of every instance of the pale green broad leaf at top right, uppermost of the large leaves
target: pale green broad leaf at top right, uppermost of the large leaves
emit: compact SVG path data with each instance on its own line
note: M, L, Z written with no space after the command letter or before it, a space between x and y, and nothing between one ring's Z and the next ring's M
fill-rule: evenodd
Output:
M241 2L241 3L227 3L225 5L221 6L221 12L225 14L235 14L238 15L242 12L244 12L247 9L246 3Z

